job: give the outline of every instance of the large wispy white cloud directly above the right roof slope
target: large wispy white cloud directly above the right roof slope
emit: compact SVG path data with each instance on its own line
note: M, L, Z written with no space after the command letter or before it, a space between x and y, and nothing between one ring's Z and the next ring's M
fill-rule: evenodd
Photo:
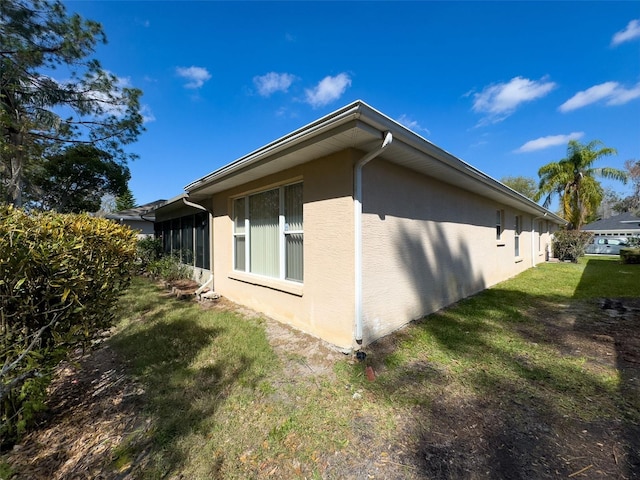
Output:
M545 78L536 81L514 77L507 83L489 85L482 92L473 93L473 111L486 114L480 124L501 122L520 104L542 98L555 87L554 82Z

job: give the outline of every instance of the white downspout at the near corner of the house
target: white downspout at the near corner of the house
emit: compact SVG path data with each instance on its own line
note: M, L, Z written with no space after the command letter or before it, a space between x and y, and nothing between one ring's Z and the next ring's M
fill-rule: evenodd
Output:
M367 153L355 164L353 175L353 208L355 233L355 340L362 344L362 167L380 155L393 141L391 132L384 134L382 145L377 150Z

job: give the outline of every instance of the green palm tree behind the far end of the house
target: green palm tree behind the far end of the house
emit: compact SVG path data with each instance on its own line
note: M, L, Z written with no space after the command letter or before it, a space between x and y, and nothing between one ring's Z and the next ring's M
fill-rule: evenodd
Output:
M552 196L558 194L562 215L569 221L569 228L580 230L602 202L604 190L596 177L627 182L627 174L622 170L593 166L600 158L616 153L615 148L605 147L600 140L586 145L577 140L569 141L566 158L538 170L540 184L534 200L539 201L547 195L543 206L548 208Z

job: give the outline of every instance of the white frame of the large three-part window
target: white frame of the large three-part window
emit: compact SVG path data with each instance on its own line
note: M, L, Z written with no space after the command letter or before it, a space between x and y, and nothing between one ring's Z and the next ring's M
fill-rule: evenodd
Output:
M304 246L304 214L302 213L302 220L301 220L301 225L302 225L302 229L289 229L288 225L289 223L287 222L287 218L285 215L285 202L286 202L286 197L285 197L285 192L287 190L288 187L294 186L294 185L303 185L304 182L302 180L296 180L296 181L292 181L292 182L287 182L287 183L282 183L279 185L275 185L275 186L269 186L266 187L264 189L261 190L256 190L256 191L252 191L250 193L246 193L244 195L240 195L237 197L232 197L231 198L231 205L232 205L232 211L231 211L231 215L232 215L232 219L233 219L233 232L232 232L232 237L233 237L233 242L232 242L232 269L233 272L236 274L241 274L241 275L250 275L250 276L256 276L256 277L261 277L264 279L269 279L269 280L276 280L276 281L283 281L283 282L287 282L287 283L291 283L294 285L302 285L304 283L304 249L302 250L302 268L301 268L301 278L300 279L295 279L295 278L290 278L287 274L287 237L290 237L292 235L301 235L302 236L302 244ZM270 192L273 190L277 190L278 191L278 218L277 218L277 225L278 225L278 244L277 244L277 252L278 252L278 274L277 276L272 276L272 275L267 275L267 274L260 274L260 273L255 273L251 271L251 245L252 245L252 239L251 239L251 202L250 199L253 196L256 195L261 195L264 194L266 192ZM304 190L303 190L304 192ZM302 195L300 197L300 208L301 208L301 212L304 212L304 193L302 192ZM237 212L236 209L239 206L239 201L242 200L244 202L244 212ZM242 207L241 207L242 208ZM240 217L238 217L238 214L242 214L244 216L244 221L242 222L242 231L240 231L238 229L238 226L240 224ZM238 255L237 255L237 245L238 245L238 238L244 238L244 268L238 268ZM304 247L303 247L304 248Z

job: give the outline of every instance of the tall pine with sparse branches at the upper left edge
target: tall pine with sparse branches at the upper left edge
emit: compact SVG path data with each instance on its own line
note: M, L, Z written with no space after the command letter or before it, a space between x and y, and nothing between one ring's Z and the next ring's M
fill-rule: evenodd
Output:
M88 144L125 164L142 131L142 92L89 58L106 43L99 23L60 0L0 0L0 188L21 206L45 151ZM66 80L50 76L62 69ZM49 73L49 74L48 74Z

